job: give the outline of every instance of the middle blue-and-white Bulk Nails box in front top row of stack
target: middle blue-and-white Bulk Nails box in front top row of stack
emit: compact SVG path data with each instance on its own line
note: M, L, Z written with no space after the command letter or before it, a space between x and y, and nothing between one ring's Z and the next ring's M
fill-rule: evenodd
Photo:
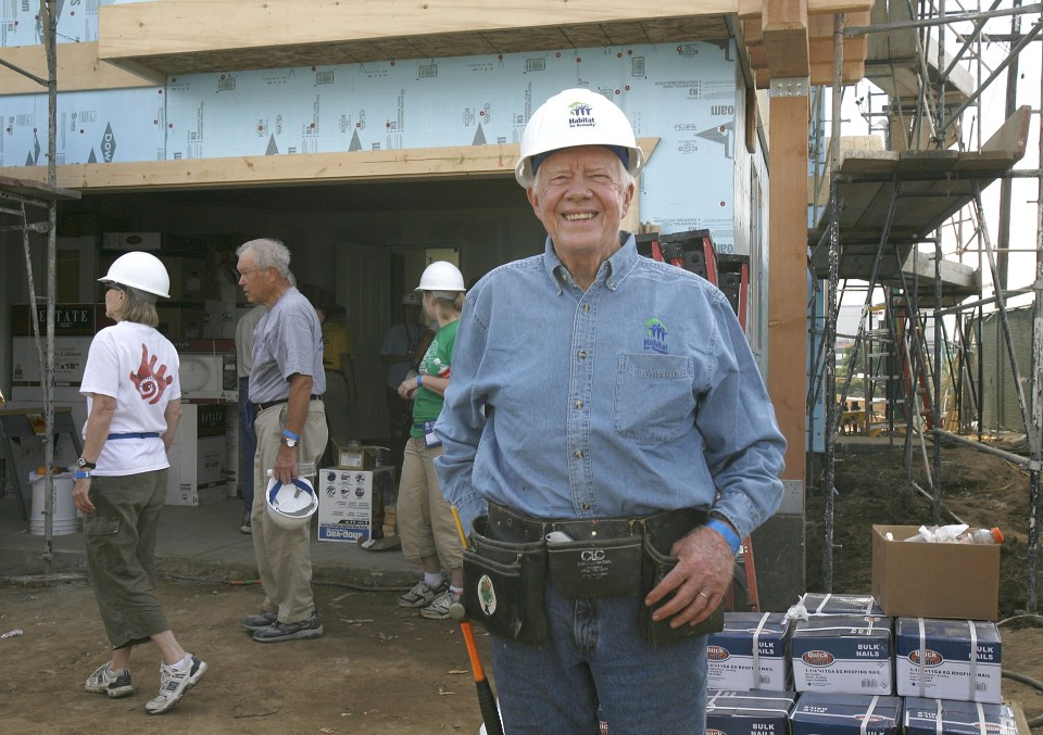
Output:
M790 638L797 692L888 695L893 692L891 619L816 616Z

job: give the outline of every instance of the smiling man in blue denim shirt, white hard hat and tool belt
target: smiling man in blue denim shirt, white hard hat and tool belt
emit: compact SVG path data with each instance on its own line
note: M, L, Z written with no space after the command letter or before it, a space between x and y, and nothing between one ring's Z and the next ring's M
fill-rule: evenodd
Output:
M612 733L704 732L705 633L782 495L727 299L620 230L642 163L600 94L536 111L516 178L544 252L468 293L436 426L510 733L593 734L599 706Z

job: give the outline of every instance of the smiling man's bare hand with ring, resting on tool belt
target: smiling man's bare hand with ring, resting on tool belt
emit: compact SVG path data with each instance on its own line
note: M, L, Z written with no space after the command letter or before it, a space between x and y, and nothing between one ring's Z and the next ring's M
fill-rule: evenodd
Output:
M656 610L653 620L670 619L670 628L695 625L720 605L734 573L736 556L724 537L713 529L699 528L670 549L677 566L644 598L654 606L671 591L670 601Z

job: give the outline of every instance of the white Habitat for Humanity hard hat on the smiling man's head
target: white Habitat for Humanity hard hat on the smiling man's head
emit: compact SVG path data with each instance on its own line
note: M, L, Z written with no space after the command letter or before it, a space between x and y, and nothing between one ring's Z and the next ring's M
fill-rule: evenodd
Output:
M644 165L644 153L623 110L589 89L566 89L541 104L529 118L522 135L522 157L514 178L523 187L532 186L535 156L578 145L612 148L631 176L637 176Z

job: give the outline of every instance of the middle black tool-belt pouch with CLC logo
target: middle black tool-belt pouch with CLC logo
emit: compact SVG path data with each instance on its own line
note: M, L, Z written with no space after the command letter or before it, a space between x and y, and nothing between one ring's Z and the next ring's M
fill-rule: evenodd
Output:
M641 592L641 536L546 544L548 568L566 599Z

